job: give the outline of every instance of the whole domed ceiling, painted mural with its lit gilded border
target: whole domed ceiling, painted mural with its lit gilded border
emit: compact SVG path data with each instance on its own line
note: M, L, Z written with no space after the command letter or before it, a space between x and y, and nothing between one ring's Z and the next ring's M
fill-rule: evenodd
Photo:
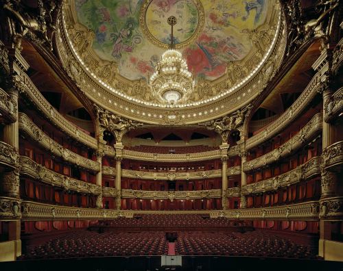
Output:
M192 73L191 90L171 104L150 86L171 43L169 16ZM286 34L279 1L64 0L56 42L67 73L94 103L175 125L248 105L279 68Z

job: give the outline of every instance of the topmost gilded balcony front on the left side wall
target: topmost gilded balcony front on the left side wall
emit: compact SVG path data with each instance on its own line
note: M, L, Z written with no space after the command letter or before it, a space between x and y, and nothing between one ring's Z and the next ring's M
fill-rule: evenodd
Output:
M44 116L55 125L58 129L62 130L67 135L71 136L74 140L88 146L91 149L97 149L97 140L92 138L91 135L84 133L81 129L73 125L69 120L64 118L40 93L34 86L31 79L23 73L18 78L20 82L20 91L32 101L32 103L44 114Z

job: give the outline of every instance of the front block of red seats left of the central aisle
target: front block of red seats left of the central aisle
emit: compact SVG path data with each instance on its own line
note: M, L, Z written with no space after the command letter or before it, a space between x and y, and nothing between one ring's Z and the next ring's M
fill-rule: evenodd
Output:
M77 231L27 249L24 259L167 254L163 232L97 233Z

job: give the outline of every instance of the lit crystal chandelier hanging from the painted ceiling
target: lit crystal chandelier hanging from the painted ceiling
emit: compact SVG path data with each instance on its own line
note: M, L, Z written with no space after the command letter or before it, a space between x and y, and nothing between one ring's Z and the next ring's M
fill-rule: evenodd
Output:
M149 85L156 98L163 103L174 105L180 99L187 99L187 96L193 91L194 81L186 60L174 47L173 27L176 25L176 18L170 16L167 22L171 25L171 44L156 65Z

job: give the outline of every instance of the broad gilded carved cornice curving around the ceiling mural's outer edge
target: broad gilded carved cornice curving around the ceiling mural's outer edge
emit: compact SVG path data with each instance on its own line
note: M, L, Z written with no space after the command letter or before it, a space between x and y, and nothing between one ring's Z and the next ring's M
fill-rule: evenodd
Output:
M68 9L67 5L65 8ZM277 25L277 21L279 21L279 12L271 12L268 14L270 19L275 22L274 25ZM152 107L144 104L137 103L136 98L129 97L128 95L119 95L115 94L115 92L108 90L107 88L113 86L113 89L119 88L119 90L128 90L131 93L131 90L134 88L130 86L130 82L128 80L123 81L122 83L117 80L115 76L116 73L110 72L104 73L106 74L106 78L101 81L95 81L91 72L88 70L92 70L93 68L84 68L82 64L76 60L78 57L81 59L86 53L86 49L90 47L90 44L86 44L84 42L87 40L86 38L79 38L80 44L74 44L73 47L76 51L81 49L80 55L77 57L74 49L71 48L71 44L67 40L67 29L71 25L75 25L75 21L72 23L64 24L63 20L69 20L71 16L71 12L64 12L62 16L59 18L59 27L57 29L57 36L56 38L56 45L58 47L58 54L64 68L66 68L67 73L78 82L80 88L85 91L87 96L94 101L95 103L102 105L104 109L108 109L110 112L118 114L120 116L126 116L132 120L142 121L151 124L158 124L158 125L179 125L179 124L195 124L200 121L211 120L213 118L218 118L223 116L224 114L228 114L228 108L234 112L235 110L239 109L242 105L248 103L252 99L254 99L259 92L265 88L265 85L270 81L270 79L276 73L277 68L279 68L281 64L281 60L283 59L283 53L285 51L285 32L283 31L283 27L285 27L284 22L282 21L279 23L279 26L276 29L272 29L275 32L275 44L272 47L267 60L265 61L265 65L260 66L257 68L257 75L252 77L249 80L246 80L245 83L239 83L239 87L231 92L230 94L220 94L220 99L215 101L209 101L208 103L199 103L196 106L192 107L182 107L178 108L178 110L174 110L173 108L161 108L161 107ZM69 17L69 18L67 18ZM70 30L70 29L69 29ZM80 29L75 29L80 30ZM82 29L81 29L82 30ZM269 29L270 30L270 29ZM86 31L82 30L84 33ZM72 31L68 31L71 33ZM74 31L74 33L76 33ZM78 34L80 36L80 34ZM71 37L72 38L72 37ZM80 46L79 46L80 45ZM248 65L255 66L256 57L262 57L263 54L252 54L250 57L246 57L244 62ZM103 69L106 70L115 70L111 68L111 64L102 62L97 62L94 59L94 55L92 57L86 57L84 64L89 64L95 66L95 70L99 72ZM245 69L244 66L241 65L233 65L228 67L228 75L232 75L235 73L244 73ZM97 73L95 71L95 73ZM94 71L93 74L95 75ZM226 75L228 78L229 76ZM235 76L237 79L238 77ZM110 80L110 81L108 81ZM114 80L114 81L113 81ZM228 81L229 78L228 78ZM226 90L227 87L230 85L228 81L215 81L215 87L212 86L211 88L206 86L206 90L217 90L218 92L222 92L222 90ZM134 82L137 84L137 82ZM142 90L139 92L139 96L143 96L145 93ZM128 99L130 98L130 99ZM136 101L137 100L137 101Z

